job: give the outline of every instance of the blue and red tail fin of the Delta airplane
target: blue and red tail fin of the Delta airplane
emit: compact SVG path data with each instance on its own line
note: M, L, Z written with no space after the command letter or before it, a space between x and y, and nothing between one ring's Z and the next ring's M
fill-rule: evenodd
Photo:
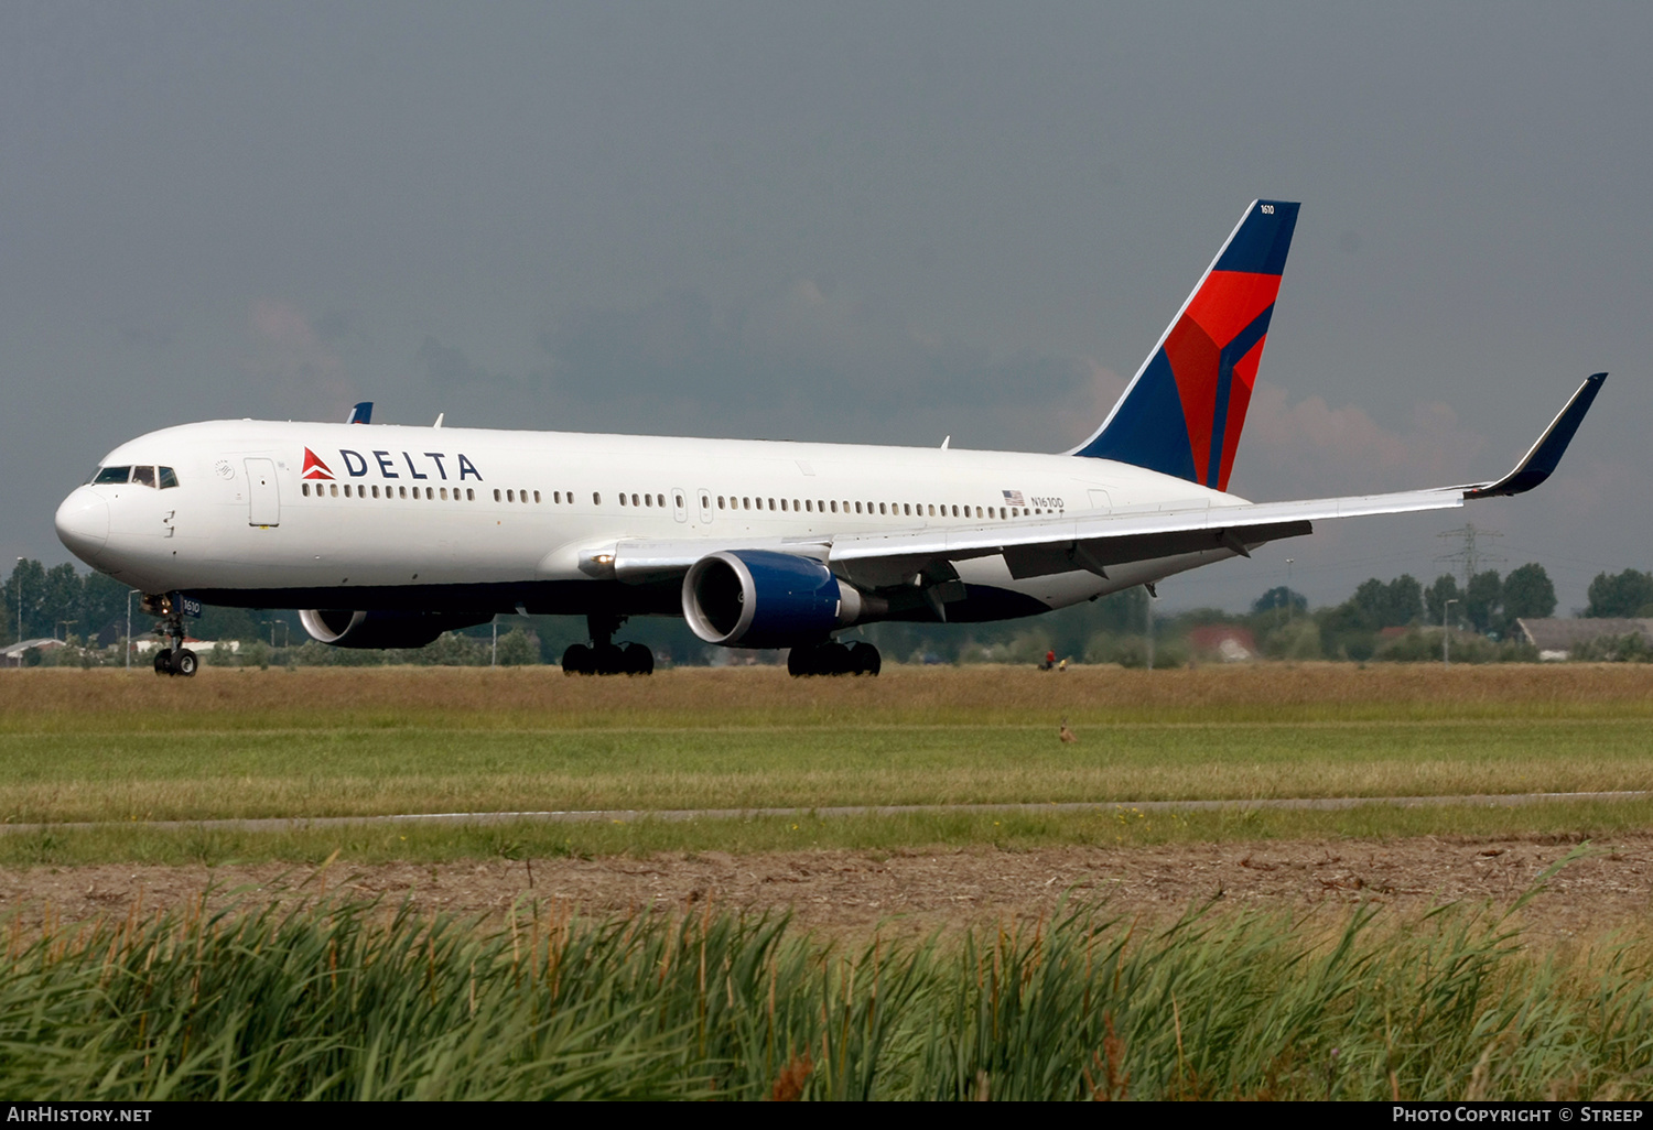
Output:
M1228 489L1298 205L1253 200L1096 434L1068 454Z

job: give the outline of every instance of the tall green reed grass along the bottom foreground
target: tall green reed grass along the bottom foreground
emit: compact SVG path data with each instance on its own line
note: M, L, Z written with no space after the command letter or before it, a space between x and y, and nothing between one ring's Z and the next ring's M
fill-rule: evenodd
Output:
M205 905L205 902L202 904ZM1509 919L1106 905L917 945L774 917L503 930L374 904L36 932L0 966L35 1099L1554 1099L1653 1094L1646 947Z

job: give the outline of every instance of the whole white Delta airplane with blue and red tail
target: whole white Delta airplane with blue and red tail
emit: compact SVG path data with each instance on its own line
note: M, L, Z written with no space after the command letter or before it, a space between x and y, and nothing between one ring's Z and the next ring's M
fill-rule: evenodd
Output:
M420 648L499 613L584 615L580 674L646 674L630 616L793 674L876 674L879 620L1028 616L1155 582L1316 520L1521 494L1555 469L1605 373L1504 477L1400 494L1228 494L1298 205L1258 200L1119 403L1063 454L215 420L124 443L58 507L81 560L144 593L195 672L202 605L298 608L339 648ZM365 425L365 426L364 426Z

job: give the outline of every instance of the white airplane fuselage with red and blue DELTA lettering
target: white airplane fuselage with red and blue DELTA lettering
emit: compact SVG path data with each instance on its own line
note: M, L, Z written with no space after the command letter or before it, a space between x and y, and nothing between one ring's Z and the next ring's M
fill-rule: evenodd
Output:
M1243 502L1073 456L253 420L139 436L101 463L119 466L170 468L177 486L76 489L58 512L64 544L141 591L205 591L251 606L296 606L284 593L306 601L329 593L317 606L352 608L360 606L354 590L562 582L531 611L579 613L584 586L613 585L582 560L617 542L704 540L711 552ZM1018 582L1000 557L985 557L959 573L1056 608L1190 563L1111 580L1074 570Z

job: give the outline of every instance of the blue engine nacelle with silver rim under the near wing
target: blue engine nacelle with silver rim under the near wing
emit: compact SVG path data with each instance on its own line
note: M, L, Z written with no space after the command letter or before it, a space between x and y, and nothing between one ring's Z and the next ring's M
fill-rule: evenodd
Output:
M722 550L683 578L683 618L696 636L726 648L818 643L860 615L860 591L797 553Z

